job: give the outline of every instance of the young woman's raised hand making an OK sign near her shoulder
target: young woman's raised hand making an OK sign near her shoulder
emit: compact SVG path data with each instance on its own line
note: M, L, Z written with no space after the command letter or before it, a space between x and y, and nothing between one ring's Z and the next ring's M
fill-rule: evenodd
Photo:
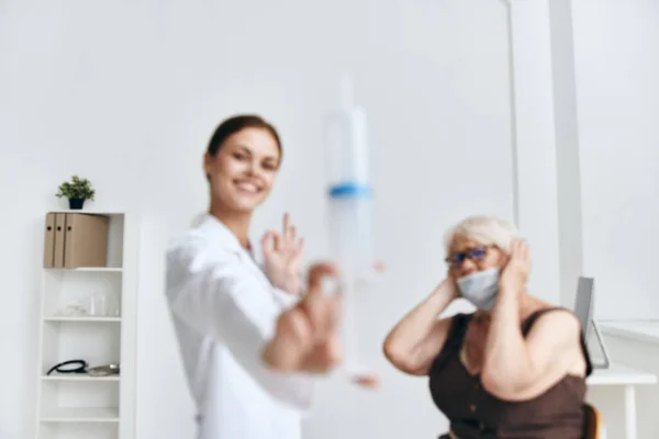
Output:
M304 251L304 238L298 237L295 226L290 223L290 215L283 215L281 234L268 230L261 247L265 257L265 271L270 282L280 290L299 294L302 289L300 264Z

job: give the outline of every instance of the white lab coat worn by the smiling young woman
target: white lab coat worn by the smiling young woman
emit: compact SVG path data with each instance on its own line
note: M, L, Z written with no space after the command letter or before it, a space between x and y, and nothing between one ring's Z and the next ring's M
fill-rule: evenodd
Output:
M277 290L236 236L202 215L167 251L166 293L198 407L199 439L300 439L314 381L260 360L297 299Z

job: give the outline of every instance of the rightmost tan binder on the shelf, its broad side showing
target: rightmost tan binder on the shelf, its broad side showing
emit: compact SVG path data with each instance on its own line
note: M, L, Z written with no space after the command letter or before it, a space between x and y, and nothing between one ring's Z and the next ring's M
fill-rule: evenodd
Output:
M105 267L109 218L67 213L65 221L64 268Z

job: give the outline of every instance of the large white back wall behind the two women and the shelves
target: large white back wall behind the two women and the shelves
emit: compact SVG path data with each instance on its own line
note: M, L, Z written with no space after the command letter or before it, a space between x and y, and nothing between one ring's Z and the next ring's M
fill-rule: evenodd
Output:
M97 187L94 207L143 216L136 437L192 437L163 254L205 207L205 142L234 112L271 119L284 166L255 232L290 210L309 259L322 257L322 117L344 69L371 120L378 249L390 270L361 330L384 382L377 393L327 385L305 431L444 431L426 380L394 373L379 344L444 275L449 224L481 212L512 217L507 55L505 9L489 0L1 2L0 188L10 214L0 219L0 346L15 357L0 362L0 437L32 434L42 221L62 206L53 194L72 173Z

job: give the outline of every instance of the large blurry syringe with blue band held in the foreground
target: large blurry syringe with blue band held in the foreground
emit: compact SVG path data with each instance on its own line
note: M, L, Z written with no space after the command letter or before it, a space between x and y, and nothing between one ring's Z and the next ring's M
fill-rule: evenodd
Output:
M328 134L330 248L340 270L342 370L362 381L372 375L361 360L357 329L359 299L368 292L375 268L372 187L366 110L354 103L347 76L340 81L340 108L331 116Z

